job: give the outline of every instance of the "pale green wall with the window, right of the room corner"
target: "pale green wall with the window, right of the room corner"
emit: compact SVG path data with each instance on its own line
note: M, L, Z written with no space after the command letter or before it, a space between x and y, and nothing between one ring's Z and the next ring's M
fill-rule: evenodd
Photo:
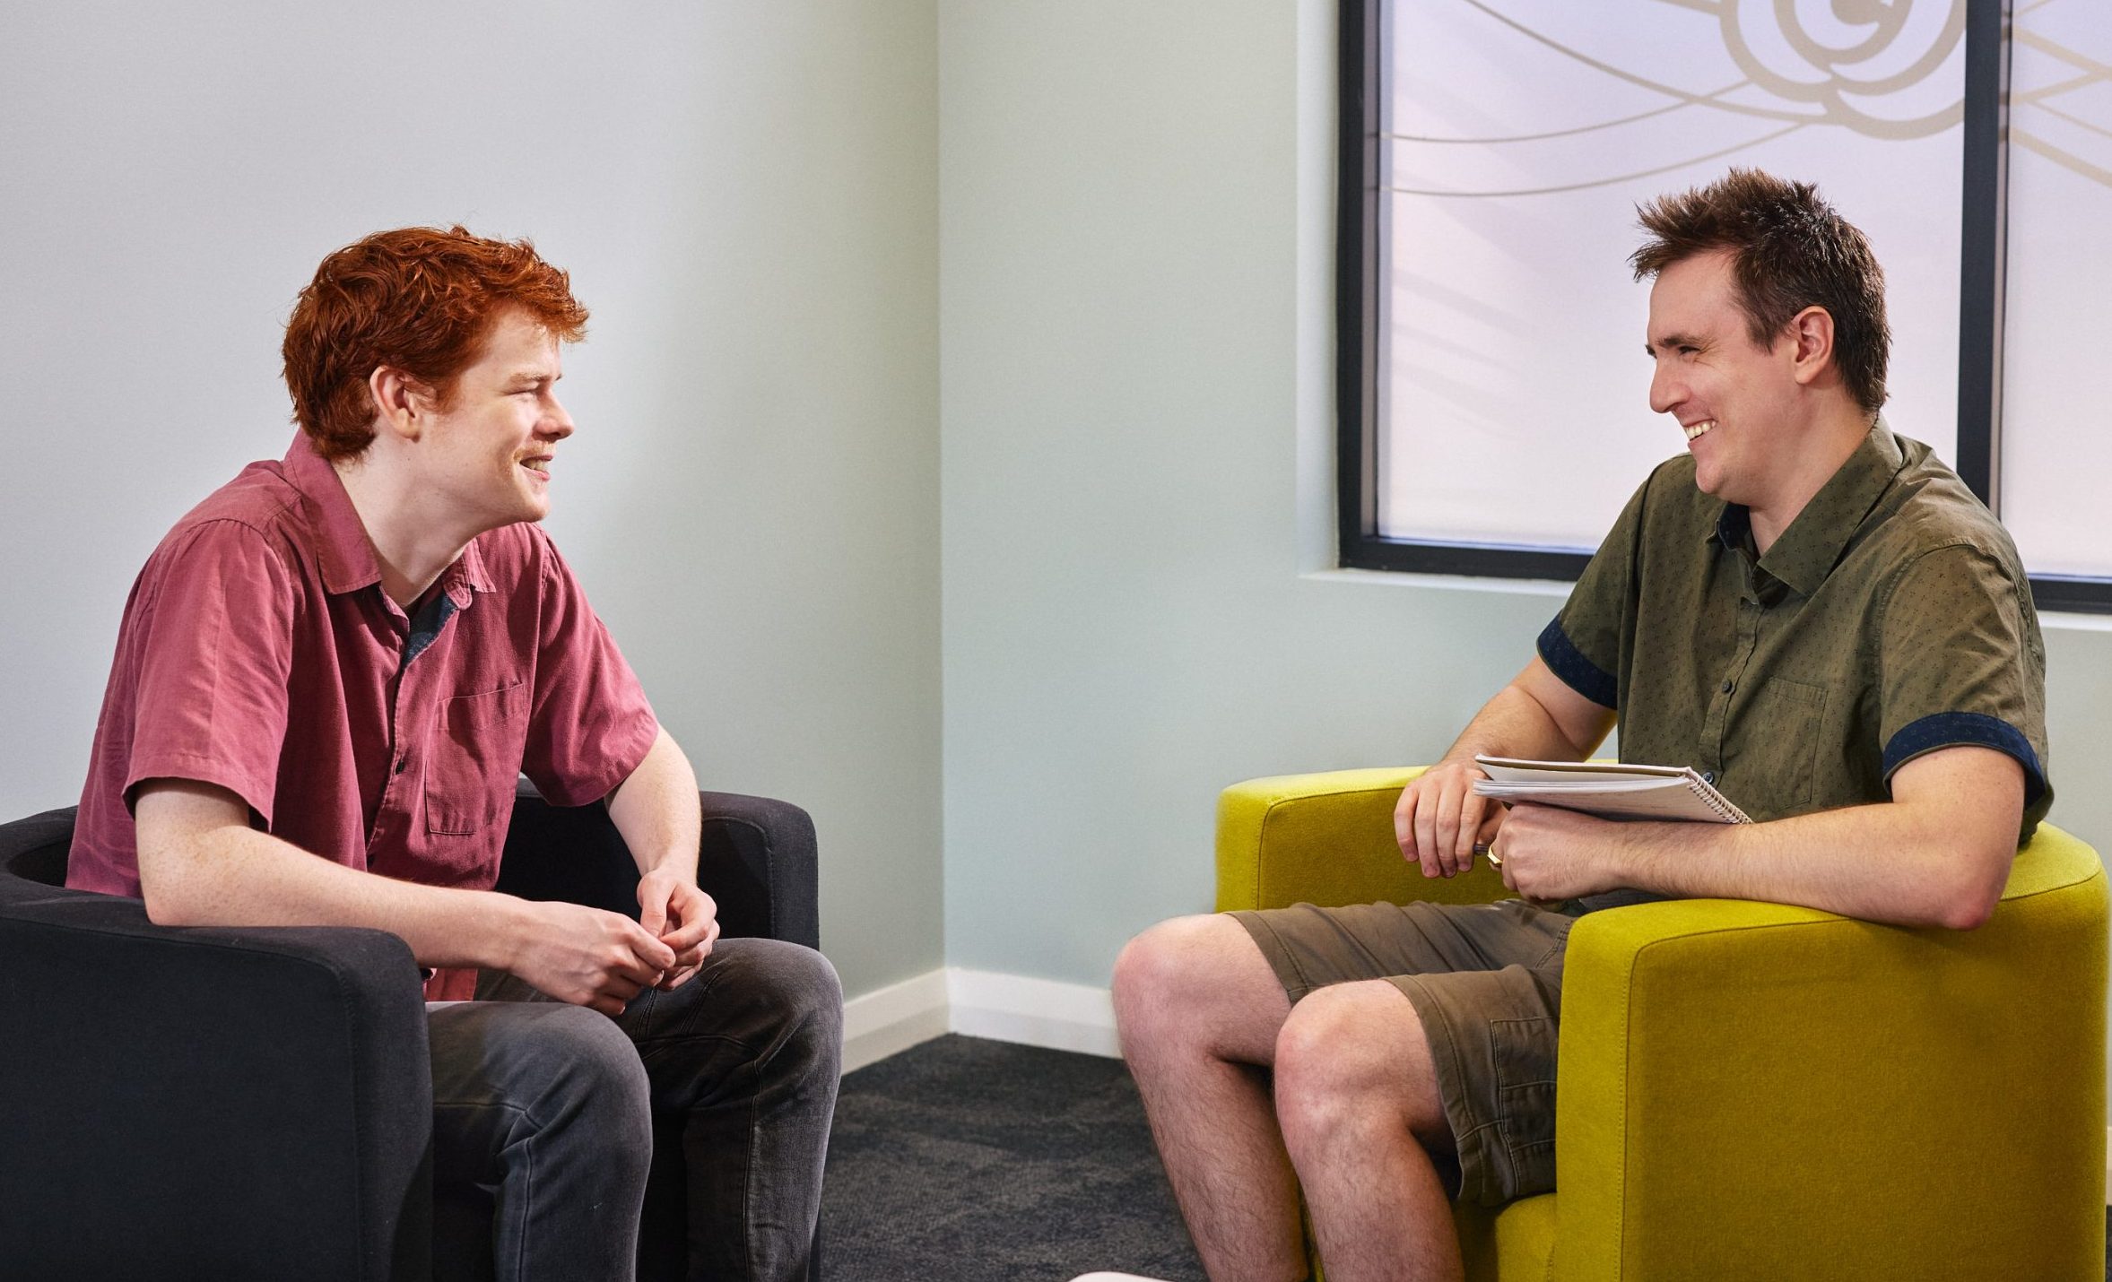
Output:
M955 965L1105 984L1208 906L1219 788L1430 758L1557 606L1299 577L1331 11L940 4ZM2055 819L2112 849L2112 634L2049 651Z

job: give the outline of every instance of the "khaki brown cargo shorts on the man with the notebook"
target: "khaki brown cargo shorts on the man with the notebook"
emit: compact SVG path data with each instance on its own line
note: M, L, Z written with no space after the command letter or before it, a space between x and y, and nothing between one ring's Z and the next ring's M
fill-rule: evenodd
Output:
M1290 1003L1326 984L1388 980L1421 1016L1462 1202L1554 1187L1554 1035L1573 917L1523 900L1231 912Z

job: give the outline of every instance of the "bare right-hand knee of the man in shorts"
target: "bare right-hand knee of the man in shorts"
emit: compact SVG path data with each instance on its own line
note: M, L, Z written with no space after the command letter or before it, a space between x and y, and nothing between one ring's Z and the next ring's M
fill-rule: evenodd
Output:
M1345 1134L1445 1126L1423 1024L1392 984L1316 988L1276 1035L1276 1115L1284 1143L1322 1147Z

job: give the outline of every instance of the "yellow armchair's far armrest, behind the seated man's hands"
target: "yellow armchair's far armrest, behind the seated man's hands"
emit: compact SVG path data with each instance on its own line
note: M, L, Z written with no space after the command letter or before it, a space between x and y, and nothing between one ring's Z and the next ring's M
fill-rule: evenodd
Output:
M1426 767L1276 775L1227 788L1217 803L1217 908L1290 904L1487 904L1510 895L1476 860L1428 879L1394 845L1394 803Z

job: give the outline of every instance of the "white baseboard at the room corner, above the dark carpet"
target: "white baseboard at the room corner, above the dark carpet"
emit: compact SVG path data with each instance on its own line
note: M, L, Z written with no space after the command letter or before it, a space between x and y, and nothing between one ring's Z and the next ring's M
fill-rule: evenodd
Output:
M1119 1056L1107 988L944 967L843 1003L843 1071L942 1033Z

